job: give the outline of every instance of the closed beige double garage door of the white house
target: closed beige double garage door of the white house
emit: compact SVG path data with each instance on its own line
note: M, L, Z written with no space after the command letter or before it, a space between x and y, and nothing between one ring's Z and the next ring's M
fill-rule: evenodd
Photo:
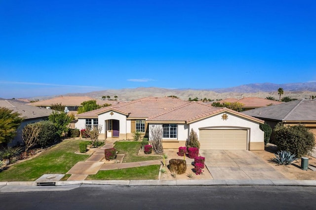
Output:
M200 130L201 149L247 149L247 130Z

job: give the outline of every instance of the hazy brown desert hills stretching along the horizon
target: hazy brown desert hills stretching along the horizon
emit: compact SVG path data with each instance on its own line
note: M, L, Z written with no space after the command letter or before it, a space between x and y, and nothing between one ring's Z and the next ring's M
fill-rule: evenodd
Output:
M109 89L102 91L95 91L89 93L69 93L65 94L67 96L89 96L95 99L101 99L102 96L118 96L119 101L130 101L139 98L156 96L177 96L180 99L188 100L189 97L198 99L227 99L236 98L241 99L243 97L259 97L266 98L268 96L273 96L278 99L277 89L283 88L284 96L289 96L291 98L302 99L309 98L310 96L316 96L316 82L310 83L287 83L287 84L273 84L273 83L256 83L240 85L231 88L221 88L221 89L165 89L156 87L139 87L139 88L125 88L125 89ZM56 96L51 96L53 98ZM45 97L46 99L49 97ZM40 97L34 97L34 99L42 100Z

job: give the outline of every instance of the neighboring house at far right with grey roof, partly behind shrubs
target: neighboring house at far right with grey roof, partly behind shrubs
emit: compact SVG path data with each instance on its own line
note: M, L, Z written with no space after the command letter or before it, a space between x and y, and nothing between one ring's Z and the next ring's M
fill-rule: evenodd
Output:
M285 125L304 124L316 137L316 100L301 99L242 113L264 120L272 129L278 122ZM272 136L272 140L274 136Z

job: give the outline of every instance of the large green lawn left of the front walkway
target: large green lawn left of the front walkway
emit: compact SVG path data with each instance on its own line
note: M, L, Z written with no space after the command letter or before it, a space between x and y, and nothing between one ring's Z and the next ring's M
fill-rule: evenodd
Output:
M89 155L75 154L81 140L64 140L38 157L17 163L0 172L0 181L34 181L43 174L66 174Z

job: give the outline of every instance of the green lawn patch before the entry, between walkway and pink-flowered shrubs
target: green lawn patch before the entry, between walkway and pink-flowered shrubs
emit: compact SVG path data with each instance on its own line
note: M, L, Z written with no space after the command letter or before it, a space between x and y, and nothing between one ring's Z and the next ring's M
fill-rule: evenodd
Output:
M138 151L141 148L141 141L116 141L114 146L118 154L125 154L123 163L131 163L146 160L159 160L160 156L138 156Z

